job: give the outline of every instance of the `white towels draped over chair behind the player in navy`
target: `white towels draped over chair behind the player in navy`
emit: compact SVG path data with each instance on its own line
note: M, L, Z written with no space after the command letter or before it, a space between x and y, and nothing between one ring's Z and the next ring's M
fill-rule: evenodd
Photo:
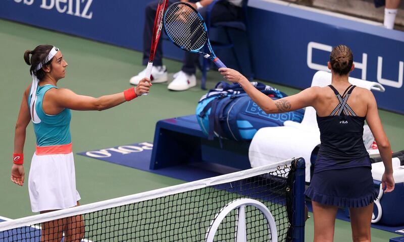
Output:
M384 92L377 82L349 77L349 83L373 91ZM318 71L313 76L312 87L325 87L331 84L331 73ZM316 110L307 107L301 123L285 121L284 126L260 129L248 150L251 167L277 162L292 157L302 157L306 161L306 181L310 181L311 157L320 145L320 131L317 125Z

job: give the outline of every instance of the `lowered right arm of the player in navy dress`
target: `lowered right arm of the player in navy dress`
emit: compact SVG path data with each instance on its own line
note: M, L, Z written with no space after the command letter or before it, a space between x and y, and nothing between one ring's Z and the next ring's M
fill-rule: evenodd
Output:
M370 102L368 103L368 113L366 114L366 122L372 131L380 156L384 163L384 174L382 176L382 187L386 189L384 192L391 192L394 190L393 168L391 164L391 147L387 139L386 133L383 130L380 121L379 112L377 110L376 99L371 91L368 92Z

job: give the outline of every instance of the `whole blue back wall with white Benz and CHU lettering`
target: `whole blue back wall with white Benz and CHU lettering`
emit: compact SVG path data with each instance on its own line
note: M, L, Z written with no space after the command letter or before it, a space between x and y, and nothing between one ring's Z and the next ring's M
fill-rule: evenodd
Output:
M144 8L149 2L0 0L0 18L141 50ZM264 0L249 0L248 5L256 78L309 87L314 73L325 68L331 46L346 44L357 66L351 75L383 84L386 92L375 92L379 106L404 113L403 32ZM168 41L163 46L165 56L182 58L183 52ZM217 54L233 66L229 53Z

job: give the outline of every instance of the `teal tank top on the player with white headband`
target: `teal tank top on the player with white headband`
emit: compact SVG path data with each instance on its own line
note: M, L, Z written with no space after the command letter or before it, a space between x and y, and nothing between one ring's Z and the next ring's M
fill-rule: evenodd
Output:
M46 114L42 109L43 96L54 85L44 85L36 90L35 110L40 119L39 123L33 123L37 146L66 145L72 142L70 135L71 111L65 108L56 115ZM28 106L31 97L28 97ZM29 107L31 108L31 107ZM31 109L30 109L31 111ZM31 111L32 112L32 111ZM36 122L36 120L35 120Z

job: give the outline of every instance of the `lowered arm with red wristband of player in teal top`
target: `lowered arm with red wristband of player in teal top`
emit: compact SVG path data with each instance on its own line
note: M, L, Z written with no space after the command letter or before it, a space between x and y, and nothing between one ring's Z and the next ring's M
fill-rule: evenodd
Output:
M20 112L17 118L16 128L14 132L14 154L24 153L26 128L31 120L31 115L29 114L28 108L28 92L29 87L24 92ZM23 159L23 157L20 157L20 159ZM13 164L13 167L11 168L11 180L13 181L13 183L22 186L24 184L24 175L25 172L23 165Z

